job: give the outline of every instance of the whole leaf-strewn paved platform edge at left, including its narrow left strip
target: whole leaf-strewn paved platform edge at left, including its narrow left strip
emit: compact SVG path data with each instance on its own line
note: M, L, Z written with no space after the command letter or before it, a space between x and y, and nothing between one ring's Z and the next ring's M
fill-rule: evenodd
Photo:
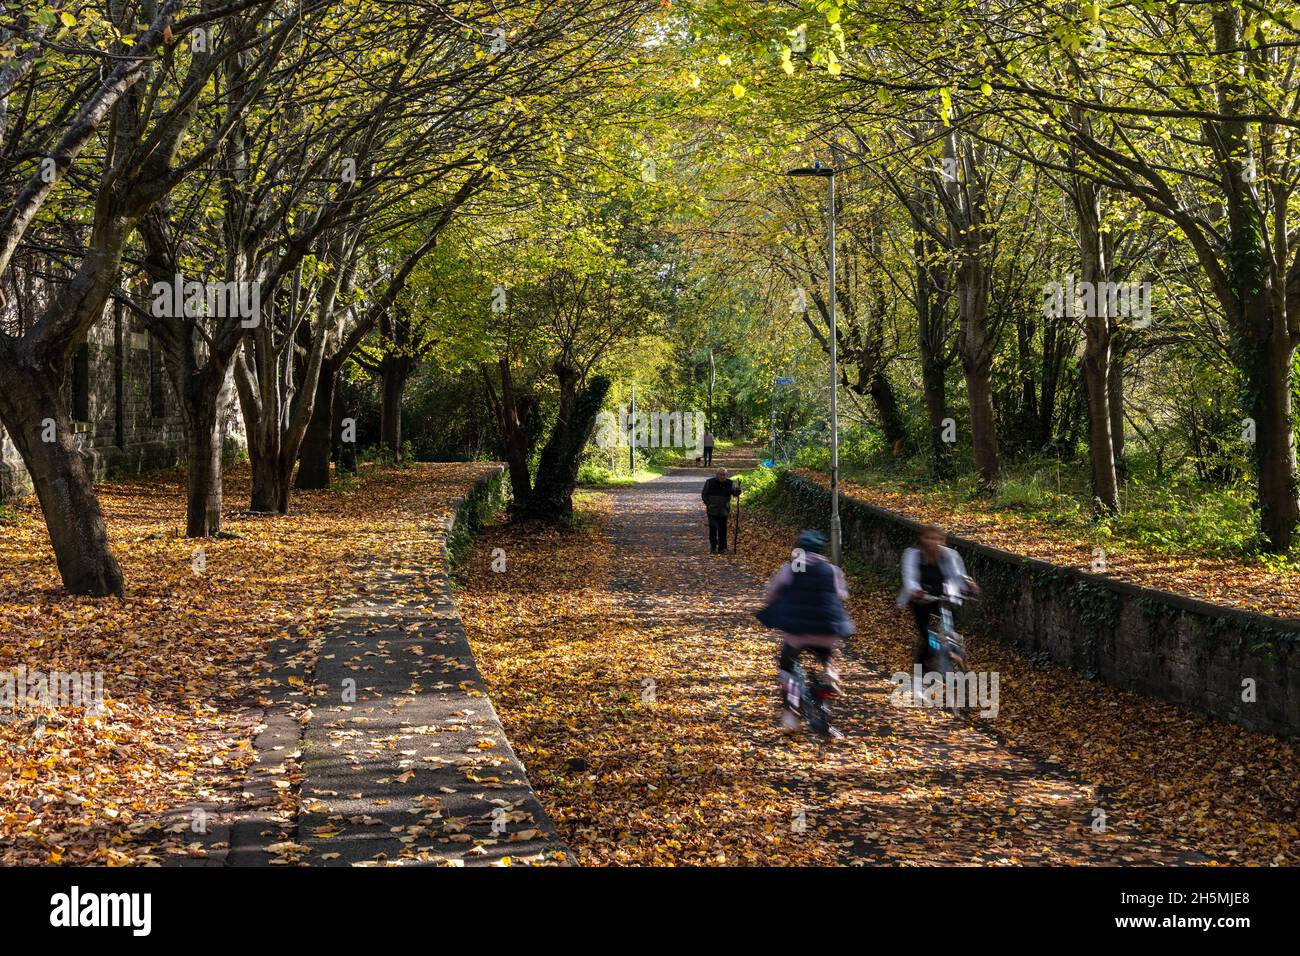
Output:
M272 661L256 762L237 795L165 821L196 851L169 865L569 861L456 615L442 568L448 515L420 501L411 512L411 540L390 541L359 575L363 593L335 609L315 669L298 645ZM402 567L403 554L420 567ZM199 812L207 827L191 834Z

